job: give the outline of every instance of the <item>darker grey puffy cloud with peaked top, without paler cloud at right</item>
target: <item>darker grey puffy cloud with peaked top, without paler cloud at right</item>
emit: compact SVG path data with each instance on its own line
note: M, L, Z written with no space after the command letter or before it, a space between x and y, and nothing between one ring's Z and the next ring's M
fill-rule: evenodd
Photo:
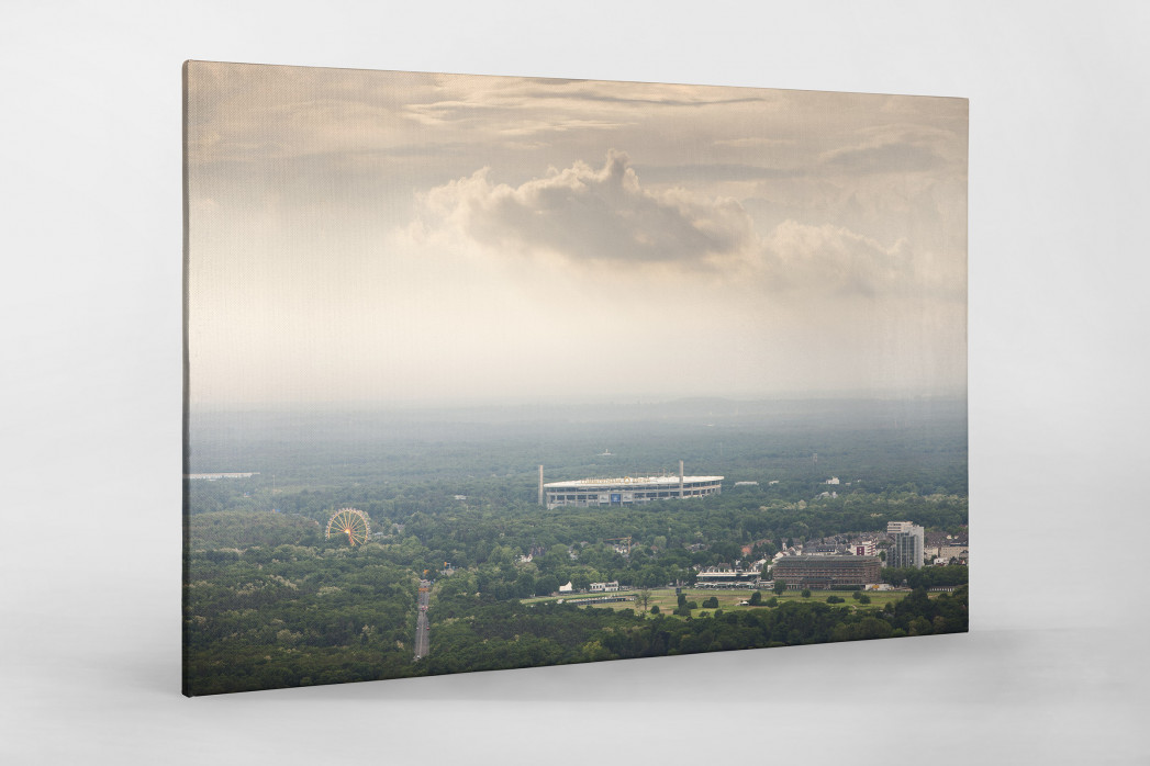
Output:
M481 245L572 262L707 270L742 257L756 242L751 217L735 200L644 188L619 152L608 153L598 170L576 162L518 187L492 184L483 169L422 201L440 224Z

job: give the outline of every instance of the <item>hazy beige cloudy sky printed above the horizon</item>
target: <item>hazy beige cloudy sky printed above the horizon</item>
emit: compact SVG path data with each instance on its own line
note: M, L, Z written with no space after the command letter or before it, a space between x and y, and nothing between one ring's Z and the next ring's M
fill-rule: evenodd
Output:
M189 401L963 396L967 101L189 62Z

